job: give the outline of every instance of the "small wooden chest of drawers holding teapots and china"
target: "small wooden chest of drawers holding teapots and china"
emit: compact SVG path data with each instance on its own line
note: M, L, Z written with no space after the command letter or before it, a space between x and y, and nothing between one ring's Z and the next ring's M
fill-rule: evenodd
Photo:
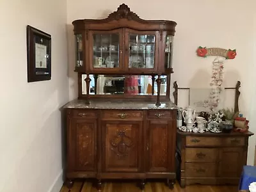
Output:
M239 184L252 132L177 131L177 179L189 184Z

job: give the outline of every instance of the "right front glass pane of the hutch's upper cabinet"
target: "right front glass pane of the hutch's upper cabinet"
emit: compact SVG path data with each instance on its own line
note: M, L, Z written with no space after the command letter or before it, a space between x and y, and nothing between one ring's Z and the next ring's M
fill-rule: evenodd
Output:
M129 33L129 61L130 68L155 68L156 34Z

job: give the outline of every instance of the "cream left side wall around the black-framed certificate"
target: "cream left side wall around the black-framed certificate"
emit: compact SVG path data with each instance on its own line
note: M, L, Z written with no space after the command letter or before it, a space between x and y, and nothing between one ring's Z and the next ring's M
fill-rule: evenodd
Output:
M60 107L68 102L67 4L1 0L0 23L0 191L60 191ZM52 35L51 81L27 83L27 24Z

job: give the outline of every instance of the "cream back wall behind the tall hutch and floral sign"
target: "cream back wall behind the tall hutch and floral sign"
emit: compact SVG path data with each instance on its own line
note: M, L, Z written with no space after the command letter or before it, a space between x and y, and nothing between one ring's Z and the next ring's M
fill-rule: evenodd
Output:
M225 61L223 85L235 86L236 81L241 81L239 108L241 113L251 120L250 130L256 132L256 122L253 122L256 113L252 110L256 108L256 103L252 107L252 98L256 94L252 91L252 82L255 82L253 54L256 51L254 49L253 52L253 43L256 42L255 26L253 29L253 18L256 18L254 0L248 0L246 3L234 0L67 0L67 22L71 24L76 19L102 19L116 11L122 3L127 4L131 11L142 19L166 19L177 22L172 83L177 81L180 87L209 85L214 57L197 57L195 51L198 46L236 49L236 58ZM255 20L254 24L256 24ZM70 30L72 30L71 25ZM73 38L70 35L68 38ZM74 79L70 80L70 84L75 81ZM76 97L74 93L77 93L77 88L71 85L71 97ZM249 164L253 163L255 146L253 137L250 138Z

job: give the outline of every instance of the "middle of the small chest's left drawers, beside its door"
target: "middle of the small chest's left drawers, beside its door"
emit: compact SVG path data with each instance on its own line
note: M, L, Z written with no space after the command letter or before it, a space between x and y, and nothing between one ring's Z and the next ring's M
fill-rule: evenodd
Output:
M186 162L214 163L218 158L218 148L186 148Z

